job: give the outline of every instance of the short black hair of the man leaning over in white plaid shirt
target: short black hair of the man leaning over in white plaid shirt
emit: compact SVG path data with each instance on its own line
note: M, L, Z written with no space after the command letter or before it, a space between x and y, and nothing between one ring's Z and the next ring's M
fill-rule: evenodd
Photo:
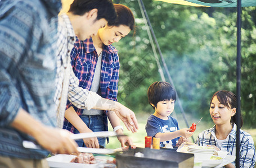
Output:
M84 15L93 9L97 9L97 20L105 18L109 24L114 24L116 12L112 0L74 0L70 4L69 12L74 15Z

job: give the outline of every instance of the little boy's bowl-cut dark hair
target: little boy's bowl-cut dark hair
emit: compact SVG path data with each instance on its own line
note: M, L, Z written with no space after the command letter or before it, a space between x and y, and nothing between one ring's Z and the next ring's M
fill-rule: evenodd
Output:
M149 99L150 105L153 104L156 107L159 101L170 99L175 101L176 90L168 82L154 82L147 89L147 99ZM154 106L152 107L154 108Z

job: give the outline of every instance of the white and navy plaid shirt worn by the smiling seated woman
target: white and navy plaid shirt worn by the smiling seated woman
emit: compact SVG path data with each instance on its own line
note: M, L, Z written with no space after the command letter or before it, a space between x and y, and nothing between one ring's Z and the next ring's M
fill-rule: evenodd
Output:
M196 144L200 146L214 145L217 146L215 141L215 129L213 128L204 130L199 134L196 139ZM225 142L222 143L221 151L227 151L228 155L236 155L236 124L233 123L233 128L230 135ZM232 162L235 165L235 161ZM255 165L255 146L253 138L249 133L240 129L240 167L254 167Z

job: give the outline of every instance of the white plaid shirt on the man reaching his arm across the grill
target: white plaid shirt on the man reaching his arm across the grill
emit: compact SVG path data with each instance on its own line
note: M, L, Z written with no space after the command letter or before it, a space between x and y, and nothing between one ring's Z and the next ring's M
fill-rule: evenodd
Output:
M69 56L74 46L75 33L69 17L65 13L59 16L58 35L57 46L59 49L57 55L55 103L58 107L57 126L62 128L67 98L75 106L89 110L96 105L96 102L101 97L94 92L78 87L79 81L72 71Z

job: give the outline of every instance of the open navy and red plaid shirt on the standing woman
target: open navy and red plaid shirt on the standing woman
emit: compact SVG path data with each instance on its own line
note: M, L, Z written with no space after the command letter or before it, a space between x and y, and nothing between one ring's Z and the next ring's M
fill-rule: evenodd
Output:
M104 45L102 50L101 60L101 77L100 88L102 97L117 101L118 94L118 79L119 79L119 57L117 50L112 45ZM71 66L75 76L79 79L79 86L91 90L93 75L98 60L98 55L93 46L92 39L84 41L75 41L75 46L71 51ZM67 109L72 106L70 102L67 104ZM83 110L75 107L75 111L79 116L82 115ZM107 130L107 111L104 111L104 126ZM64 129L74 132L74 126L67 120L64 122Z

